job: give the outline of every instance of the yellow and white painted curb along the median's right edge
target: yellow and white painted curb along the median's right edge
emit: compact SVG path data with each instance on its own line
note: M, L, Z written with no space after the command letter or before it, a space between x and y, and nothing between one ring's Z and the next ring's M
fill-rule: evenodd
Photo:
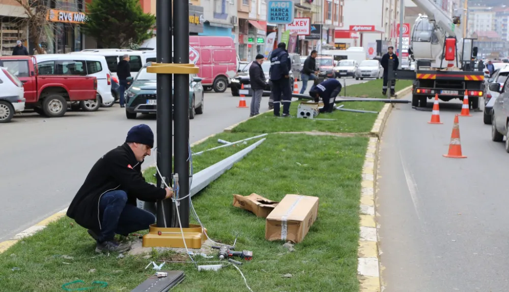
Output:
M412 86L396 93L402 98L412 91ZM378 233L376 222L376 182L378 167L378 151L385 123L392 111L393 105L386 104L370 132L370 142L367 145L364 165L362 167L361 196L360 196L360 240L358 247L357 273L360 292L380 292L382 281L380 276L380 254L378 251Z

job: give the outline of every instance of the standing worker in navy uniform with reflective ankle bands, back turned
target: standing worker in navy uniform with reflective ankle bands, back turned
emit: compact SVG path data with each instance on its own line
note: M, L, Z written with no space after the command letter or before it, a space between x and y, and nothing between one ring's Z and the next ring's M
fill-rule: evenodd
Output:
M283 103L283 117L290 117L290 103L292 90L290 88L290 69L292 61L288 56L285 43L279 43L270 55L269 78L272 82L270 88L273 98L274 116L279 115L281 102Z

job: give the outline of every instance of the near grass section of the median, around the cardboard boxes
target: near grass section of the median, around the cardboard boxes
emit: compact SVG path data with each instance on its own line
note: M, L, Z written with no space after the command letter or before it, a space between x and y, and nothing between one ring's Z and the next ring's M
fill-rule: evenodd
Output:
M237 141L251 133L222 133L193 151ZM196 212L216 241L232 243L254 253L240 267L253 291L357 291L359 192L367 138L303 134L270 134L267 140L230 171L193 197ZM255 141L224 147L193 157L195 172ZM153 180L153 170L146 173ZM256 192L272 200L287 193L320 198L319 215L295 251L281 242L265 240L265 220L232 206L232 194ZM58 291L64 283L108 282L107 291L129 291L144 281L150 261L173 258L171 252L152 252L151 258L117 254L97 255L92 238L63 218L0 254L0 287L6 291ZM63 255L66 255L65 257ZM198 259L198 258L197 258ZM211 259L202 259L210 261ZM18 268L18 269L15 269ZM234 268L197 272L191 264L167 263L165 269L184 270L186 280L175 291L243 291ZM281 277L292 274L291 278ZM97 289L100 290L100 289Z

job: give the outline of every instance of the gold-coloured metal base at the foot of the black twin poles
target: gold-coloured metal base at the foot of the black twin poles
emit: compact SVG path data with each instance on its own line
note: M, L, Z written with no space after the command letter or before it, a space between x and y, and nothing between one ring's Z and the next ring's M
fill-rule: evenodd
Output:
M202 226L189 224L183 228L187 248L201 248L207 239ZM156 224L149 227L149 233L143 236L143 247L185 247L180 228L160 228Z

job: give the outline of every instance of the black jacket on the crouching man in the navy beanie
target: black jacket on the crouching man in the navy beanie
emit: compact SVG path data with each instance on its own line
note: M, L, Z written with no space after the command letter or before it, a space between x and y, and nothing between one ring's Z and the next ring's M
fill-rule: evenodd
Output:
M83 185L67 210L67 216L87 229L100 230L99 199L110 190L124 190L127 204L136 206L136 199L156 202L166 197L163 188L145 181L142 176L142 163L127 143L109 151L99 158L90 170Z

